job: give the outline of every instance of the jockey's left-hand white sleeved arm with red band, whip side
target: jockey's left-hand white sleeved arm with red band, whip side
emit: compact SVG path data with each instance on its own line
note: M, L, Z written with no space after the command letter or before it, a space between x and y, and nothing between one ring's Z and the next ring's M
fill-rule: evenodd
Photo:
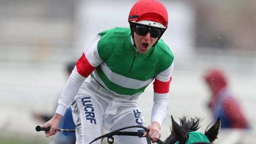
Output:
M99 35L96 35L91 41L89 41L80 59L77 61L74 70L69 76L69 79L63 89L63 92L58 100L58 107L56 113L65 114L66 109L70 106L71 101L76 96L83 81L95 70L95 68L102 63L97 50L97 43L100 39Z

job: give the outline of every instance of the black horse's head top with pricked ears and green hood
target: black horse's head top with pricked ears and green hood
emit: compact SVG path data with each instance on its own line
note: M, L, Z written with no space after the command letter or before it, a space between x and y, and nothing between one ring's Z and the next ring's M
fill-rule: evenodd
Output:
M171 120L171 135L166 138L163 144L212 144L217 138L221 125L221 119L218 118L210 129L206 128L203 134L197 132L200 128L199 124L202 121L198 117L187 119L184 116L180 118L180 125L174 121L173 116L171 116Z

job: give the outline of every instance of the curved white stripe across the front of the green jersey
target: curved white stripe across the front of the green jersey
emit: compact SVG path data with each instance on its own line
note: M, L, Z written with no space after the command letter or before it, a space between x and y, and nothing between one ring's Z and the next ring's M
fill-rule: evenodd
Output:
M145 87L154 80L154 78L148 79L147 81L127 78L125 76L112 72L105 62L101 63L100 67L111 82L129 89L139 89Z

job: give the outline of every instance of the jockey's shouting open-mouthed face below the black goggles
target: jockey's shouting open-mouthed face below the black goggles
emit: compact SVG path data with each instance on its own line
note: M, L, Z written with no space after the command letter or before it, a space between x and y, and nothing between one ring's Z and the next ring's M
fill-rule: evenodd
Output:
M144 36L138 35L134 32L134 41L137 50L141 54L145 54L152 47L152 45L156 43L157 40L158 38L152 38L149 32Z

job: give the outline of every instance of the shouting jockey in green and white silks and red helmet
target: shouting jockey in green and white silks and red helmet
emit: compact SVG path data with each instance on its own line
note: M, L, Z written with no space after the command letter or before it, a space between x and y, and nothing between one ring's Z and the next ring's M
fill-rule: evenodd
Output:
M130 28L102 31L87 43L58 100L56 113L43 125L50 127L46 137L57 133L61 116L70 104L76 144L88 144L99 137L102 127L113 131L126 126L145 126L138 98L154 81L148 129L152 142L160 138L169 107L174 65L171 50L160 39L167 29L167 10L157 0L139 0L132 7L128 22ZM115 139L120 144L147 144L145 135L142 138L115 136Z

